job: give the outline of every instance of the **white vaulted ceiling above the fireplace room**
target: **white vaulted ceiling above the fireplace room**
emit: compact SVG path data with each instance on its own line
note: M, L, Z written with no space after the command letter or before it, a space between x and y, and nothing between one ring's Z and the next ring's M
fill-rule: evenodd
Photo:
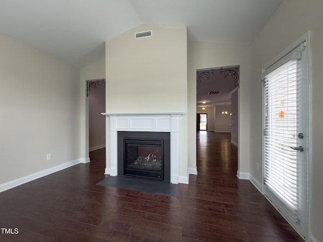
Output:
M187 26L190 41L250 45L282 0L0 0L0 33L82 67L140 24Z

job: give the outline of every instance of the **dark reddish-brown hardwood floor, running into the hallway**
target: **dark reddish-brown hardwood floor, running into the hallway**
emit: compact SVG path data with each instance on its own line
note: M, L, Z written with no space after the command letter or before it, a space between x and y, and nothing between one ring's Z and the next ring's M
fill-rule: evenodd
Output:
M197 133L198 175L176 197L97 186L105 150L90 160L0 193L0 241L303 241L236 177L230 134Z

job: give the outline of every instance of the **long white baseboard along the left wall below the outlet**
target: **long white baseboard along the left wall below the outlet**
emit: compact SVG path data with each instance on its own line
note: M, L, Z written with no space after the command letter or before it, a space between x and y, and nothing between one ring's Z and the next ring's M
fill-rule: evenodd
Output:
M26 175L24 177L21 177L21 178L15 179L15 180L8 181L8 183L0 184L0 193L4 192L6 190L9 190L9 189L18 187L18 186L23 185L25 183L29 183L29 181L38 179L38 178L43 177L45 175L49 175L51 173L66 169L70 166L77 165L79 163L81 163L81 159L66 162L66 163L58 165L58 166L54 166L54 167L30 174L30 175Z

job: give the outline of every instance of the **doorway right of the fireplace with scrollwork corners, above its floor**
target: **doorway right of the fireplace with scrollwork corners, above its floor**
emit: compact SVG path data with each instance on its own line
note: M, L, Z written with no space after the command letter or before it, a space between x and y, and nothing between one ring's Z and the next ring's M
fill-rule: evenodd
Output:
M196 130L231 133L231 143L235 146L238 146L239 72L240 66L196 71Z

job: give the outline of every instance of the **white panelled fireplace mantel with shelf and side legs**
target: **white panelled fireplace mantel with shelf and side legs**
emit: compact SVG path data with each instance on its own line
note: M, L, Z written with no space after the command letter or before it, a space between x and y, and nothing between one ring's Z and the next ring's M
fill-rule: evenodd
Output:
M179 116L184 112L101 113L110 117L110 167L105 173L118 175L118 131L170 132L171 183L179 183Z

